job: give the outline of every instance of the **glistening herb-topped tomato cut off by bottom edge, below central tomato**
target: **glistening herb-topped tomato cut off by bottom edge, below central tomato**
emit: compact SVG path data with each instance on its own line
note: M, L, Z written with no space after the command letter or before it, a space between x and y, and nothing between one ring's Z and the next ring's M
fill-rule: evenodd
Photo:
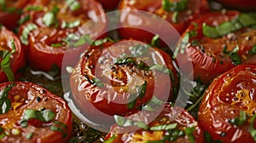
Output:
M132 132L117 134L120 129L125 129L119 125L113 125L107 134L105 140L112 140L112 143L121 142L203 142L203 134L200 126L196 122L195 118L192 117L189 112L179 108L166 105L160 115L154 119L151 123L148 123L148 118L154 116L153 112L143 111L140 114L131 115L128 117L129 120L134 122L144 122L148 125L144 128L137 129ZM177 123L177 127L174 129L153 129L154 127L160 127L163 125ZM128 128L128 127L127 127ZM190 139L188 132L185 133L185 129L192 129ZM194 130L195 129L195 130ZM192 138L191 138L192 136Z

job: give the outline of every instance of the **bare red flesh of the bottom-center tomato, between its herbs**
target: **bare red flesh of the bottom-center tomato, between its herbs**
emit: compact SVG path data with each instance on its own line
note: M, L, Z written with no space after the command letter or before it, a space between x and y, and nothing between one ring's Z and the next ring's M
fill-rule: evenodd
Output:
M128 119L131 119L133 121L145 121L145 123L151 122L149 119L150 116L152 116L153 112L140 112L139 114L131 115L131 117L128 117ZM178 115L177 115L178 113ZM177 116L177 117L176 117ZM149 127L155 126L155 125L163 125L163 124L172 124L177 123L177 129L183 130L186 127L189 127L189 124L195 123L195 132L193 132L193 136L195 139L195 142L202 143L204 142L203 134L200 125L196 122L195 118L192 117L189 112L179 108L179 107L172 107L169 104L166 104L164 106L164 109L160 112L160 115L158 115L151 123L148 123ZM106 135L104 140L108 140L113 135L116 137L112 141L112 143L121 143L121 142L130 142L135 141L136 136L142 135L144 138L138 139L137 141L160 141L163 139L164 134L160 135L161 131L147 131L146 129L137 129L136 131L132 131L129 133L124 134L117 134L120 129L125 129L124 127L119 127L117 124L114 124L108 134ZM158 133L157 133L158 132ZM165 131L163 131L165 132ZM149 134L149 135L148 135ZM158 135L157 135L158 134ZM143 140L144 139L144 140ZM189 139L186 137L178 137L177 140L174 141L167 141L166 142L190 142Z

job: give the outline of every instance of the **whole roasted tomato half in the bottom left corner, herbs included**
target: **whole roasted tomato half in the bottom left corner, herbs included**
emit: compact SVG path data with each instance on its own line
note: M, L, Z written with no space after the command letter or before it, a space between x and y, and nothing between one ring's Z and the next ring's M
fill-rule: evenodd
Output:
M33 83L0 84L1 142L65 142L72 112L55 94Z

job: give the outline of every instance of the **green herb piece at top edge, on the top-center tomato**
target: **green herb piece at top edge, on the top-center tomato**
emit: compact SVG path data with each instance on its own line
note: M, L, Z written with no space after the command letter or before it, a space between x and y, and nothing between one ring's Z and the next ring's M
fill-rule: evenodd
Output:
M181 0L179 2L170 2L170 0L163 0L162 7L166 11L183 11L187 9L189 0Z

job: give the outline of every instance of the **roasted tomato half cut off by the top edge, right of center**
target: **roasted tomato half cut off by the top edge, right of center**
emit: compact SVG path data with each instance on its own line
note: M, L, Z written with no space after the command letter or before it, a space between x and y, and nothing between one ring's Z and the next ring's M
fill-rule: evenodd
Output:
M120 13L119 23L122 28L119 29L119 35L123 38L132 37L140 41L150 42L154 34L159 33L153 34L145 31L148 29L147 27L162 29L161 32L163 33L168 32L165 31L166 27L159 26L159 20L155 20L154 15L148 17L139 11L132 10L143 10L159 15L181 34L189 25L190 20L207 12L208 5L205 0L123 0L119 4L119 9L125 10ZM166 37L172 41L177 40L172 39L170 35L166 35Z

